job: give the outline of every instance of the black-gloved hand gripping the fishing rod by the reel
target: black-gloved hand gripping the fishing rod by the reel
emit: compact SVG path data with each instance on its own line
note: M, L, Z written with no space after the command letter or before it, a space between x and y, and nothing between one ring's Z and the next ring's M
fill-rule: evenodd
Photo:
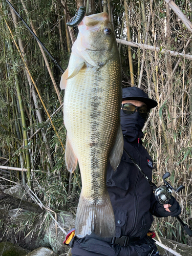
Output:
M162 217L168 217L168 216L176 217L176 216L180 215L180 213L181 213L181 207L180 207L179 203L177 202L177 200L175 199L175 197L173 197L173 196L170 196L170 197L171 197L171 199L169 200L168 204L171 206L166 207L166 209L168 208L170 210L170 212L164 208L163 204L157 203L157 205L156 205L156 211Z

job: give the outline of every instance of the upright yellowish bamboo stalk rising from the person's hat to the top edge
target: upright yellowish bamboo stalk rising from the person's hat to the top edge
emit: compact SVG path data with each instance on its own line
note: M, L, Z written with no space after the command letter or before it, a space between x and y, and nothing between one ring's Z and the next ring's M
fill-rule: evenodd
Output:
M131 31L130 31L130 24L129 24L128 0L124 1L124 10L125 10L125 19L126 19L127 40L130 41ZM128 46L128 56L129 56L129 65L130 65L131 86L134 86L133 58L132 58L132 49L130 46Z

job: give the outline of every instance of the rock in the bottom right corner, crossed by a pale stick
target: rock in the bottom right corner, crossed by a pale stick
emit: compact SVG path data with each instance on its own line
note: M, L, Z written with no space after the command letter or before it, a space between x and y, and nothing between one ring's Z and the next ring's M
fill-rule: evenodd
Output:
M182 256L192 256L192 246L181 244L173 240L160 238L163 245L167 246L170 249L175 250L176 252L180 253ZM163 249L159 245L157 245L159 250L159 254L161 256L174 256L173 253Z

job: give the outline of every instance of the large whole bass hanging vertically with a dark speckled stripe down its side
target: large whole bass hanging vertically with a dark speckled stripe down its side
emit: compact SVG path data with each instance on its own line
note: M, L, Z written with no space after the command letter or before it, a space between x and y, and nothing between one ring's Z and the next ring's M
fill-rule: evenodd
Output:
M60 88L65 89L66 166L72 173L78 161L82 181L75 234L114 237L106 170L109 161L116 170L123 153L121 62L107 13L84 16L78 31L60 80Z

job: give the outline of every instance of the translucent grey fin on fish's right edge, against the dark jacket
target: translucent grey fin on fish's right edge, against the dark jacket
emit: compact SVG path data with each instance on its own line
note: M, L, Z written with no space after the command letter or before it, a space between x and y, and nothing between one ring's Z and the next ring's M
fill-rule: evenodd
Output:
M110 163L111 163L111 166L114 169L114 171L117 169L117 167L121 161L121 157L123 154L123 145L124 145L123 134L122 134L122 130L121 130L121 125L119 125L115 144L110 153Z

